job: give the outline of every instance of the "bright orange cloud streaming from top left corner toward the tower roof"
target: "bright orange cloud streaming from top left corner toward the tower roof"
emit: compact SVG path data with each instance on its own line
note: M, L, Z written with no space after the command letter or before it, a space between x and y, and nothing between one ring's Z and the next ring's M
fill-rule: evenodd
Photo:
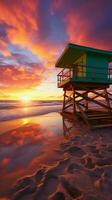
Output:
M35 1L25 0L21 3L13 2L9 8L7 6L6 3L0 2L0 19L11 25L7 32L10 42L32 50L46 62L52 59L54 61L57 48L40 38L38 24L42 21L39 21L38 1L35 4Z

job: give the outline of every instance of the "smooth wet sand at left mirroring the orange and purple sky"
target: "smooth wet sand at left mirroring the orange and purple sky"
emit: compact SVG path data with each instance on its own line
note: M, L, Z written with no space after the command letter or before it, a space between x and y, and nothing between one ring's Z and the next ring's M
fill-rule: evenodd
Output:
M63 139L58 113L19 119L14 121L14 127L16 122L17 128L11 125L12 130L0 135L0 197L9 192L18 178L32 174L40 163L50 162L53 149Z

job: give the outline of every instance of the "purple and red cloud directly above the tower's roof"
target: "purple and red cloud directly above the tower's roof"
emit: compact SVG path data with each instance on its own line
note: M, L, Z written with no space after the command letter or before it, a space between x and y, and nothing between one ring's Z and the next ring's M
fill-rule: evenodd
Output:
M111 49L112 2L105 0L54 0L53 10L61 13L70 42Z

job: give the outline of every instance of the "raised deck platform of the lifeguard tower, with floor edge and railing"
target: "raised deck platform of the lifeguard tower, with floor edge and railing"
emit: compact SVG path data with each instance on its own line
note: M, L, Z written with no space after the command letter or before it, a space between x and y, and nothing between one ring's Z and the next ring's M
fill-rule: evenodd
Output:
M77 66L76 66L77 67ZM84 66L82 65L82 68ZM95 67L94 67L95 68ZM101 68L101 67L100 67ZM102 77L102 71L93 73L93 67L90 66L89 72L83 74L82 71L78 71L79 74L74 73L74 69L63 69L58 75L57 75L57 83L58 88L64 88L66 85L72 83L81 86L81 84L84 84L86 86L90 85L92 87L101 86L107 88L110 84L112 84L112 68L108 69L108 73L105 77Z

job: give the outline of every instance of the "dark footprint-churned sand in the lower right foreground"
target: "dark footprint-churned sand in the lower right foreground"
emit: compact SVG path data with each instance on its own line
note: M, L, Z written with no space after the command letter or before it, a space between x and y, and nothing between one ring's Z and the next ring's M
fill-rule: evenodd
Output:
M77 126L75 130L78 134ZM60 141L59 136L55 142L51 140L48 143L52 156L46 151L44 165L38 167L36 164L37 169L33 174L20 177L16 181L10 195L12 199L107 200L107 196L112 199L111 130L95 131L94 134L80 134L76 137L72 137L70 133L69 137L69 140L64 140L63 137L56 149L51 147ZM53 162L49 162L50 159ZM38 160L42 163L39 157Z

